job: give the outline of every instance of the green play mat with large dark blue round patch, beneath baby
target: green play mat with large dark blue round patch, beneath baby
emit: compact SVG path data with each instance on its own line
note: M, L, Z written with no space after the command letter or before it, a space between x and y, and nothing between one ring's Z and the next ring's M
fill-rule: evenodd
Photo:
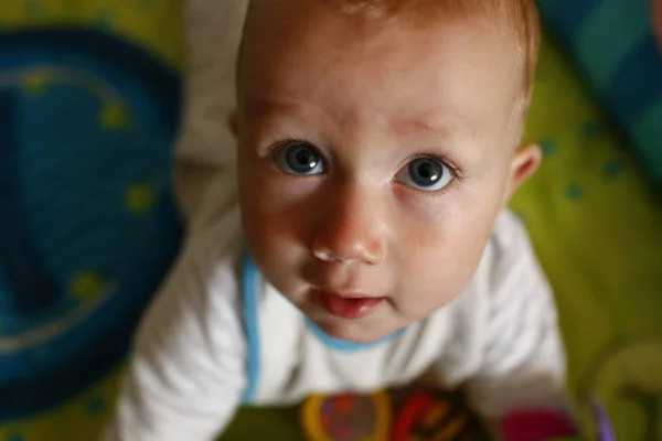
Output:
M661 440L662 200L554 42L526 131L545 162L512 207L587 429L597 399L619 440ZM177 252L182 60L180 0L0 2L0 441L89 441L108 415ZM299 440L300 415L244 409L223 439Z

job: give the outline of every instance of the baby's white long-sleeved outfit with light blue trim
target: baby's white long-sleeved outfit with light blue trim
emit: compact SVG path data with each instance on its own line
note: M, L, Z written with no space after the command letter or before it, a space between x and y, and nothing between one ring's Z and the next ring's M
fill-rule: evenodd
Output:
M189 232L137 334L105 440L212 440L247 400L369 391L433 366L466 385L488 418L559 406L565 357L548 284L510 213L463 293L429 319L369 346L323 335L242 248L234 141L234 60L246 0L189 0L186 112L177 186Z

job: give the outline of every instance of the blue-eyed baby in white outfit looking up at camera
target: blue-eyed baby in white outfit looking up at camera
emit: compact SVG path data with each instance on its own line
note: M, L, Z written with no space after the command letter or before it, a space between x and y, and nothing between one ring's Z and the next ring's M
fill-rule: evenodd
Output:
M212 440L242 404L430 368L494 423L563 407L554 301L505 211L541 162L533 1L244 3L189 4L189 233L106 440Z

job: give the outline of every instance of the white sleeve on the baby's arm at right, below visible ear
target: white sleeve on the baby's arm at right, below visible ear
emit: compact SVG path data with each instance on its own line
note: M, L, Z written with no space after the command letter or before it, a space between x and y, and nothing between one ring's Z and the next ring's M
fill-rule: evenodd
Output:
M566 358L549 286L512 214L498 219L492 245L480 364L468 381L469 397L485 418L563 410Z

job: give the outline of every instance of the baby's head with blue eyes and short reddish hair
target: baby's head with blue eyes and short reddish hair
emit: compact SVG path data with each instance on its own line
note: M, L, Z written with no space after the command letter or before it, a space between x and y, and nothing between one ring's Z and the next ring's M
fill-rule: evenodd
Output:
M459 295L541 160L537 42L532 0L253 0L233 126L269 282L356 342Z

